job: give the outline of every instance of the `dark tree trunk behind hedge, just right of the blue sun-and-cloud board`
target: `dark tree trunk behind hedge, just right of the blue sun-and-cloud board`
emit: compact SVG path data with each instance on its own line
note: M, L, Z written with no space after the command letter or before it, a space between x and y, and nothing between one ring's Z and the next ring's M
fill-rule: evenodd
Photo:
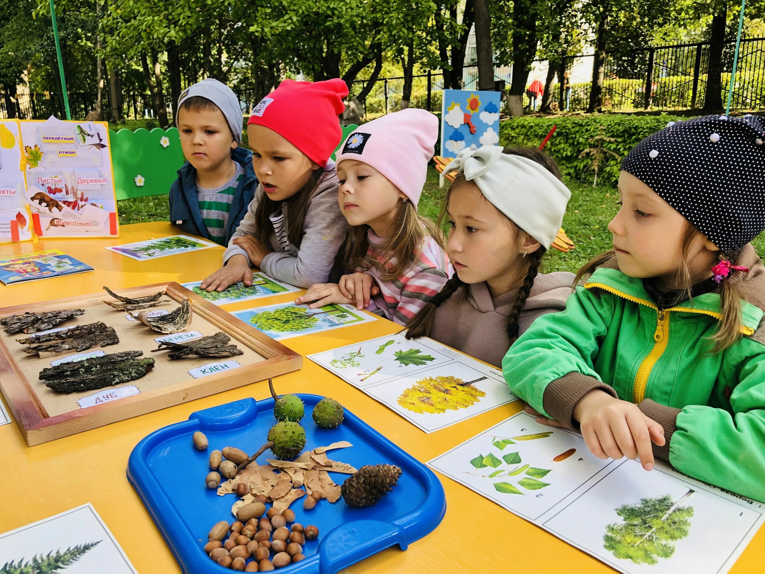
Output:
M513 77L507 93L511 116L523 115L523 94L536 55L536 4L539 0L513 3Z

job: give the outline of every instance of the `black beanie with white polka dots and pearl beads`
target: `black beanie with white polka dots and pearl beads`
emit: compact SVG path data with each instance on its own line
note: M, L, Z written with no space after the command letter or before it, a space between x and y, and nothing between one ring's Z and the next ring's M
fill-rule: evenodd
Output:
M669 122L623 159L724 253L765 229L765 122L704 116Z

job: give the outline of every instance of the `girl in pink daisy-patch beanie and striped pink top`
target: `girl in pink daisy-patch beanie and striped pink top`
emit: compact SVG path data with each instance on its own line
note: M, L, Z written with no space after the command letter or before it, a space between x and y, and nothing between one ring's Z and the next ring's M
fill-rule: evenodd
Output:
M404 325L451 277L444 237L418 216L438 119L424 109L368 122L337 155L340 210L350 223L339 284L312 285L296 302L351 303Z

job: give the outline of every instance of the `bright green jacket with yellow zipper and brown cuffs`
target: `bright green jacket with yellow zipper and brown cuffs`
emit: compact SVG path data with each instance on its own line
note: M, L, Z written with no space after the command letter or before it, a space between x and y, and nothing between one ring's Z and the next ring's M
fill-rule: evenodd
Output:
M743 294L744 335L710 354L720 296L698 295L659 312L640 279L615 257L578 286L565 311L544 315L510 347L510 389L568 423L593 389L630 400L665 429L654 452L677 470L765 501L765 267L750 245L731 281Z

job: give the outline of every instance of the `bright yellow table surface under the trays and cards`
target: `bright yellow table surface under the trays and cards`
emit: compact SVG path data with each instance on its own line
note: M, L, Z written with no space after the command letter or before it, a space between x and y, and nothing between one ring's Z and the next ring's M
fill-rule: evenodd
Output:
M123 226L121 230L119 240L47 240L37 245L0 246L0 256L3 257L58 248L96 269L91 273L26 285L0 286L0 304L18 305L99 292L102 285L122 289L164 281L197 281L220 265L223 248L145 262L104 249L109 245L178 233L169 223L138 223ZM256 304L271 305L293 297L294 294L277 295ZM226 305L225 308L233 311L248 308L252 303ZM307 355L396 331L399 331L397 325L380 320L288 339L285 344ZM279 392L317 393L340 400L347 409L420 461L440 455L519 410L519 404L514 403L426 435L311 360L304 360L301 370L278 377L275 385ZM128 457L136 443L149 432L186 420L194 411L247 396L264 399L269 396L268 387L262 382L253 383L31 448L24 444L15 424L0 426L0 533L90 502L122 544L138 572L180 572L148 511L125 478ZM588 554L510 514L461 484L443 477L441 482L446 491L447 510L435 531L412 543L406 552L396 546L349 570L416 574L614 572ZM731 572L763 572L763 549L765 529L757 533ZM2 563L5 563L5 557L0 556Z

